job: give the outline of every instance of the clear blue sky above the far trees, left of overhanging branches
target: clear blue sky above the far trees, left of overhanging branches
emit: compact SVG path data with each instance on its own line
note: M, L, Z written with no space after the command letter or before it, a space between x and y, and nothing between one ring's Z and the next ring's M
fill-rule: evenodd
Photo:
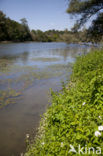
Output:
M30 29L70 30L74 21L67 13L68 0L0 0L0 10L20 22L26 18Z

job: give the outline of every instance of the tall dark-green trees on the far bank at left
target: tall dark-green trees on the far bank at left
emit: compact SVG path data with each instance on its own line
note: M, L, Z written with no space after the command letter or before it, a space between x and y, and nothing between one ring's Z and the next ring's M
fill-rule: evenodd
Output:
M25 19L25 18L24 18ZM0 41L30 41L32 40L27 20L18 23L0 11Z

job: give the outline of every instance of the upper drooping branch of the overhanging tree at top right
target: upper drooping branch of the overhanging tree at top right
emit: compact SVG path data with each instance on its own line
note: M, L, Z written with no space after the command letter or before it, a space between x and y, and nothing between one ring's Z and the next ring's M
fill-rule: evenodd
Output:
M80 18L75 25L75 28L79 29L91 16L99 14L102 9L103 0L70 0L67 13L79 15Z

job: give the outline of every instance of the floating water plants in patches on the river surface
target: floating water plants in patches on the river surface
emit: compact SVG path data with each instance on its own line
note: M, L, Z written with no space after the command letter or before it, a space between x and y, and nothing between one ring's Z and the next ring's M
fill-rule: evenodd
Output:
M32 58L34 61L55 62L59 58ZM15 60L14 60L15 61ZM17 102L23 91L35 84L35 81L60 77L68 65L51 64L45 68L36 65L17 64L13 59L0 59L0 108Z

